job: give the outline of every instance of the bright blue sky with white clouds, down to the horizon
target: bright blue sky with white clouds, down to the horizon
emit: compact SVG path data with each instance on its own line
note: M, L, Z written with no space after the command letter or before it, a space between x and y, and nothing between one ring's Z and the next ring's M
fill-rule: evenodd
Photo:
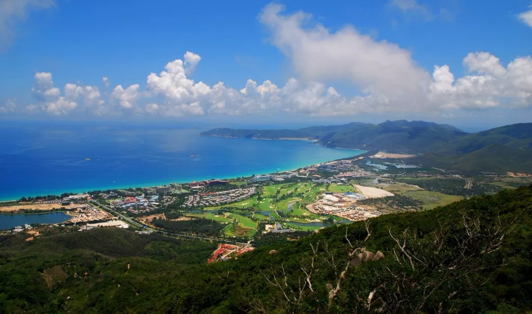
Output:
M532 117L530 5L0 0L0 115L524 122ZM186 62L186 52L201 57L193 72L187 64L165 71L171 61ZM436 78L435 65L448 69ZM188 81L176 81L180 72ZM246 86L248 79L256 84ZM189 87L191 80L206 87ZM79 92L67 94L67 83ZM59 93L46 93L52 86Z

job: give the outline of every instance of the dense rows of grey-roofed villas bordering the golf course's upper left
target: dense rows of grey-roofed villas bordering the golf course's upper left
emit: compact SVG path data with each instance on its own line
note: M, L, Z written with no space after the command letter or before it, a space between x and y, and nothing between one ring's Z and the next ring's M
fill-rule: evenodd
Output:
M212 193L200 193L187 198L182 207L207 207L218 206L250 198L255 193L255 188L236 189Z

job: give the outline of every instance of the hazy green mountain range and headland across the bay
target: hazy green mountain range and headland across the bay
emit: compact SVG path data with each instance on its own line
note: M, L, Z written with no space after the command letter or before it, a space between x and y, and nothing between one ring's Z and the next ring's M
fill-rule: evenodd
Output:
M336 148L418 154L414 163L464 174L532 173L532 123L466 133L454 126L425 121L348 123L297 130L213 129L202 136L252 139L307 138Z

